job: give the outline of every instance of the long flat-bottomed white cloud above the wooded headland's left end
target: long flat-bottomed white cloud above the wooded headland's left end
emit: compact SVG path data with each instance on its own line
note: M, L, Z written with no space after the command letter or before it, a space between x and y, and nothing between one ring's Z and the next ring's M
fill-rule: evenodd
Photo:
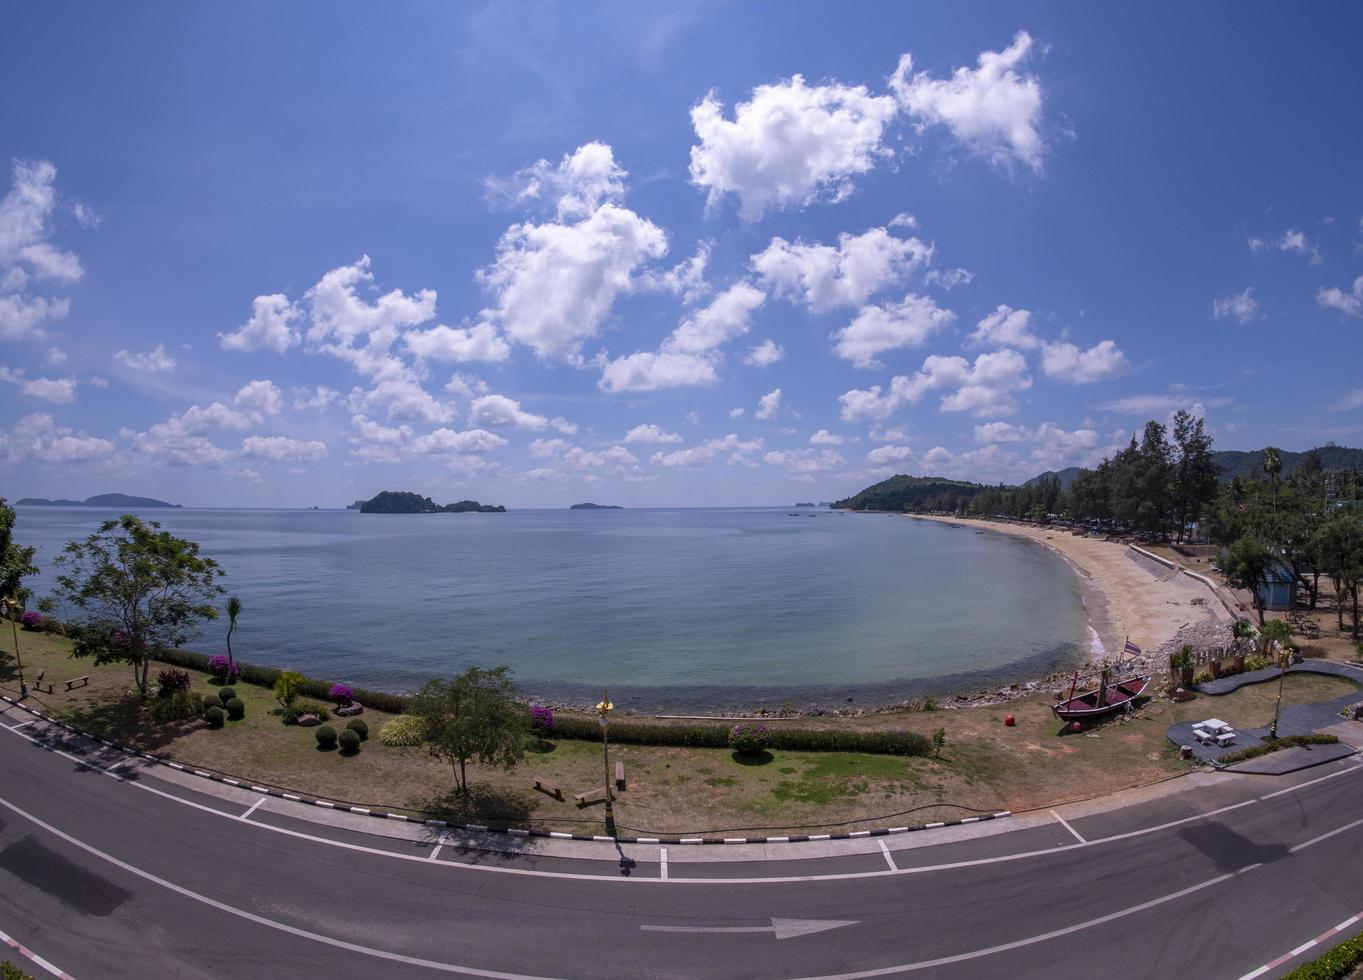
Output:
M845 393L844 421L889 418L905 405L917 402L925 393L946 388L942 412L969 412L975 416L1014 414L1014 393L1032 387L1026 358L1017 350L980 354L975 364L964 357L932 354L913 375L897 375L889 391L879 384Z

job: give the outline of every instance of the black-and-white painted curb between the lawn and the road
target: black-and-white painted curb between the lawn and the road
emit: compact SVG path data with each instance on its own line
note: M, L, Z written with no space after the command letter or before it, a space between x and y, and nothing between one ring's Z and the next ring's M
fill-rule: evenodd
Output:
M789 834L785 837L611 837L608 834L568 834L560 830L534 830L522 827L493 827L484 826L481 823L450 823L448 821L438 821L423 816L408 816L406 814L395 814L388 810L373 810L369 807L356 807L349 803L334 803L331 800L322 800L315 796L304 796L303 793L289 793L284 789L275 789L274 786L260 786L249 780L239 780L230 776L224 776L222 773L211 773L204 769L196 769L195 766L187 766L181 762L172 762L170 759L164 759L159 755L153 755L151 752L139 752L136 748L129 748L127 746L120 746L109 739L102 739L93 732L86 732L75 725L70 725L61 718L56 718L50 714L44 714L42 711L29 707L27 705L15 701L10 695L0 694L0 701L4 701L15 707L23 709L29 714L42 718L49 725L56 725L64 728L68 732L79 735L85 739L90 739L108 748L114 748L125 755L134 755L139 759L147 762L154 762L159 766L166 766L174 769L176 771L185 773L188 776L198 776L199 778L209 780L211 782L222 782L229 786L236 786L237 789L249 789L255 793L262 793L264 796L275 796L281 800L289 800L292 803L303 803L311 807L320 807L323 810L339 810L350 814L360 814L363 816L372 816L380 821L402 821L405 823L420 823L429 827L446 827L448 830L469 830L483 834L506 834L508 837L544 837L556 841L600 841L604 844L667 844L667 845L682 845L682 844L801 844L804 841L849 841L859 837L887 837L890 834L908 834L915 830L936 830L939 827L960 827L968 826L970 823L983 823L984 821L995 821L1000 816L1011 816L1013 812L1009 810L1000 810L994 814L980 814L979 816L962 816L957 821L938 821L935 823L919 823L915 826L904 827L879 827L875 830L848 830L836 834Z

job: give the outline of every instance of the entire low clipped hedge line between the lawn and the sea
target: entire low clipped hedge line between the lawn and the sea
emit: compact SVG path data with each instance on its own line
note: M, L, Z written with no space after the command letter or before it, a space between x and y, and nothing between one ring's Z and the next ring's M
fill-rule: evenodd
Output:
M162 650L157 660L192 671L209 669L209 657L189 650ZM282 669L258 667L236 661L239 680L260 687L274 687ZM300 692L304 696L328 701L330 680L304 677ZM354 690L354 699L365 707L402 714L412 698L386 691ZM729 725L650 725L631 721L611 724L611 740L630 746L675 746L680 748L728 748ZM601 726L589 718L555 720L553 737L597 741ZM1285 739L1284 739L1285 741ZM917 732L849 732L840 729L771 728L767 746L796 752L867 752L871 755L931 755L932 740Z

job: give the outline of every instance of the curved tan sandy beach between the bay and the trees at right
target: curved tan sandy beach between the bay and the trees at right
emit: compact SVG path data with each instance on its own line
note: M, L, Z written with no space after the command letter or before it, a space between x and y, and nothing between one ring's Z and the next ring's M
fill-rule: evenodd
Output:
M1153 653L1189 623L1229 619L1208 586L1182 574L1161 582L1146 567L1131 560L1127 545L1116 541L1075 537L1058 527L913 517L1030 538L1066 559L1092 586L1085 594L1085 604L1104 647L1104 653L1094 650L1094 658L1118 654L1127 637L1144 652ZM1194 604L1193 600L1205 602Z

